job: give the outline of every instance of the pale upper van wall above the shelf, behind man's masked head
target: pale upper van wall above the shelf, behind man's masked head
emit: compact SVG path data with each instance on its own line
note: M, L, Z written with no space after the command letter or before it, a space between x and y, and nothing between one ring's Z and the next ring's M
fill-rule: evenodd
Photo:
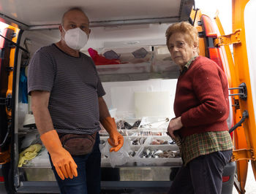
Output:
M143 24L133 26L110 26L91 28L89 41L81 52L87 53L89 47L98 50L116 47L139 47L165 44L165 31L170 24ZM23 37L31 40L31 53L39 47L58 42L59 29L25 31Z

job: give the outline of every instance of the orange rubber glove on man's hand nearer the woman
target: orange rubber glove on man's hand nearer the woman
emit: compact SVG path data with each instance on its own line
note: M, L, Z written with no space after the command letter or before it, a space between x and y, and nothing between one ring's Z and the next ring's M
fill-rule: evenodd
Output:
M105 117L101 120L101 123L110 136L108 139L108 143L112 146L110 152L117 152L124 144L124 137L118 133L115 119L113 117Z

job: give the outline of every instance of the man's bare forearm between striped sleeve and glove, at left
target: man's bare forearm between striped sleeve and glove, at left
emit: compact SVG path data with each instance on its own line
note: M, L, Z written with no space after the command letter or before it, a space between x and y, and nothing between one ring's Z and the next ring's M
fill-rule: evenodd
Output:
M53 121L48 110L50 93L47 91L31 91L31 108L34 114L34 120L37 124L37 130L40 135L53 130Z

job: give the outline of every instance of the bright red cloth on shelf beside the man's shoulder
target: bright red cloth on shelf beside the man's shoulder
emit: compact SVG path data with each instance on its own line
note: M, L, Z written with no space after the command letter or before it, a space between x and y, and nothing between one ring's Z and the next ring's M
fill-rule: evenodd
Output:
M118 59L105 58L102 55L99 55L97 50L94 50L92 48L89 48L88 52L89 52L89 55L91 55L91 58L94 61L96 66L109 65L109 64L120 64L120 61Z

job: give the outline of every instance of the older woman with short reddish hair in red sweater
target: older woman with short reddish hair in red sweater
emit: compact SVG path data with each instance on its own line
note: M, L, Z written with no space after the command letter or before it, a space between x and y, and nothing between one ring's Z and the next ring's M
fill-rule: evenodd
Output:
M221 193L222 172L232 155L228 133L227 78L217 63L198 56L197 29L186 22L166 31L167 47L180 66L174 112L167 132L180 141L184 165L169 193Z

